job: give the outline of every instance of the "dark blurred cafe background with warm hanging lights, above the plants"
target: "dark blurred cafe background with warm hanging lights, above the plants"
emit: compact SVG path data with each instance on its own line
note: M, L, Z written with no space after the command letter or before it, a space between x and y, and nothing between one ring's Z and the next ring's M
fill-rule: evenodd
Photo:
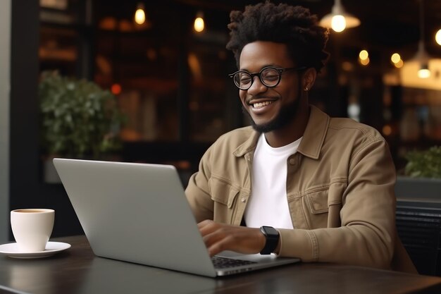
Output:
M124 159L173 159L179 147L185 154L176 159L194 169L194 159L208 144L247 123L227 76L236 66L225 44L229 12L258 2L41 0L39 71L87 78L118 97L128 116L120 133ZM287 2L309 7L320 19L335 4ZM311 102L331 116L349 116L380 130L399 169L404 149L441 140L441 45L435 42L441 1L341 4L360 24L331 30L331 59ZM139 8L144 13L137 23ZM201 32L194 27L196 18L203 22ZM421 42L427 61L417 60ZM423 63L430 66L428 78L416 73ZM154 146L158 149L150 149Z

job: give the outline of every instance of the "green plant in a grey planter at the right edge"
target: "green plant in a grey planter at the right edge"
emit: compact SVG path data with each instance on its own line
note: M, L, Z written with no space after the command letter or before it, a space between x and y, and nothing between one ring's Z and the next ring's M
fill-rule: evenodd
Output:
M397 177L397 198L441 200L441 146L407 152L404 176Z

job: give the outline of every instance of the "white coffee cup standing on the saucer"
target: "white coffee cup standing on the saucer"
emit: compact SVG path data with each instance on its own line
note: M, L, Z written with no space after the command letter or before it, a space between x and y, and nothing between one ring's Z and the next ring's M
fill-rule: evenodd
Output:
M54 228L54 209L15 209L11 228L20 252L40 252L46 248Z

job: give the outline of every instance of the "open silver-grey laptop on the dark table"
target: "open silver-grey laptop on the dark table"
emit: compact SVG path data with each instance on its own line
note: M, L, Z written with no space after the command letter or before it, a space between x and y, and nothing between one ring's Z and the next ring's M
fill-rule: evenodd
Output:
M201 276L226 276L299 262L222 252L215 267L174 166L54 159L95 255ZM240 264L230 266L239 260Z

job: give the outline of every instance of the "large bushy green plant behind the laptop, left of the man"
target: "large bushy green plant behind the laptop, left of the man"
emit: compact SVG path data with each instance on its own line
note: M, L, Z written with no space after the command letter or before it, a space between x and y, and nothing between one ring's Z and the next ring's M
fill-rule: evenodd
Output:
M53 157L100 159L120 147L123 116L111 92L57 71L43 72L38 90L46 167L52 166ZM46 182L59 180L56 172L55 178L50 178L50 169L45 173Z

